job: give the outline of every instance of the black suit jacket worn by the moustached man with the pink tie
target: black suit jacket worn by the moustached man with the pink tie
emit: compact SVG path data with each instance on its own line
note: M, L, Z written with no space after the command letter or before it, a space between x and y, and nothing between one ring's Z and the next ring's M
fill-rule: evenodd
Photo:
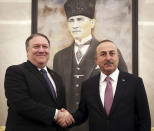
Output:
M76 124L89 117L90 131L151 131L148 100L142 79L120 72L109 116L99 95L96 75L83 83L79 109L74 114Z

